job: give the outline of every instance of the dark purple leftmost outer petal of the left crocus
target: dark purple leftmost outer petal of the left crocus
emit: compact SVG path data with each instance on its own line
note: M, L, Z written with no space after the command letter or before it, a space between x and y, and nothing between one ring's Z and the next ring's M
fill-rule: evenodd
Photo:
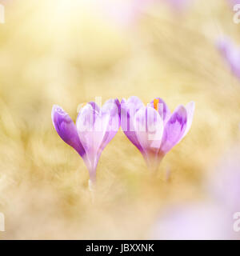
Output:
M62 107L57 105L53 106L51 116L54 128L62 140L68 145L72 146L74 150L81 155L81 157L84 157L85 150L78 138L76 126L74 125L74 122L70 116L66 114L64 110L62 110Z

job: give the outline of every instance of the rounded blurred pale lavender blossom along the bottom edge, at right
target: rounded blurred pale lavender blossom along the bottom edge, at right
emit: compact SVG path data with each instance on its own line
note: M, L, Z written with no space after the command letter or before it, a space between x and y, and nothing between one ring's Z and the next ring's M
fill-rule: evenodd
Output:
M214 202L170 206L150 230L150 238L166 240L232 239L232 218Z

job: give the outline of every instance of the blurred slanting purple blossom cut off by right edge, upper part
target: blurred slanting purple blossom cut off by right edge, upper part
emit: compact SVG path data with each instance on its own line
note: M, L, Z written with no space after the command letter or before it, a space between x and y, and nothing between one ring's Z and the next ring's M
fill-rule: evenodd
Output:
M225 58L230 70L240 79L240 46L227 37L221 38L217 42L218 50Z

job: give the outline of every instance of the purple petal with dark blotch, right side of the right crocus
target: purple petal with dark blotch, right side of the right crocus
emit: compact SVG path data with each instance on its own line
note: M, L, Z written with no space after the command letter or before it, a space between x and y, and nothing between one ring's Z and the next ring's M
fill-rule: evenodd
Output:
M187 113L184 106L178 106L164 126L161 151L165 154L175 146L186 130Z

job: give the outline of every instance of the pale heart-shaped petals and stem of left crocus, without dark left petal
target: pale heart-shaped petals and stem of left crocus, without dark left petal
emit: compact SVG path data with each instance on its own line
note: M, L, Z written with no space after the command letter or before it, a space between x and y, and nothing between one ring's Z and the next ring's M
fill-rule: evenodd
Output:
M96 168L102 150L118 132L119 102L117 99L107 101L99 112L92 104L87 104L78 114L77 130L82 146L86 150L90 180L94 182ZM94 116L94 117L93 117Z

